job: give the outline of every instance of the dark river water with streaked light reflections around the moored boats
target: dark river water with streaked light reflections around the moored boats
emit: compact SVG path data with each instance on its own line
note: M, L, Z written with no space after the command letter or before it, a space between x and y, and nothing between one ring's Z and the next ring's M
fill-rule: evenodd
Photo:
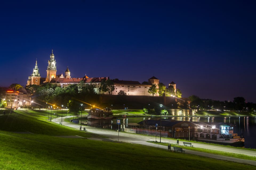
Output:
M128 118L118 118L121 120L122 124L129 124L138 126L138 122L143 120L160 120L160 117L128 117ZM256 148L255 140L256 140L256 117L248 117L248 116L235 116L235 117L164 117L162 119L174 119L179 121L192 121L192 122L226 122L227 124L233 124L234 133L240 135L243 133L245 137L245 147L246 148ZM243 119L241 121L241 119ZM111 124L111 120L113 124ZM107 119L107 120L83 120L82 124L93 126L96 128L104 128L104 129L117 129L117 119Z

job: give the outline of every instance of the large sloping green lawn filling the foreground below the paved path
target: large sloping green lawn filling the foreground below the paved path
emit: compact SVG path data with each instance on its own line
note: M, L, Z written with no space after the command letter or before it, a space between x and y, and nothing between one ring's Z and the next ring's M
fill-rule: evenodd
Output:
M38 115L38 116L37 116ZM47 113L48 116L48 113ZM255 169L255 166L181 154L131 143L60 138L102 137L54 124L46 113L0 116L0 169ZM17 134L30 131L34 134ZM200 164L198 164L200 162Z

